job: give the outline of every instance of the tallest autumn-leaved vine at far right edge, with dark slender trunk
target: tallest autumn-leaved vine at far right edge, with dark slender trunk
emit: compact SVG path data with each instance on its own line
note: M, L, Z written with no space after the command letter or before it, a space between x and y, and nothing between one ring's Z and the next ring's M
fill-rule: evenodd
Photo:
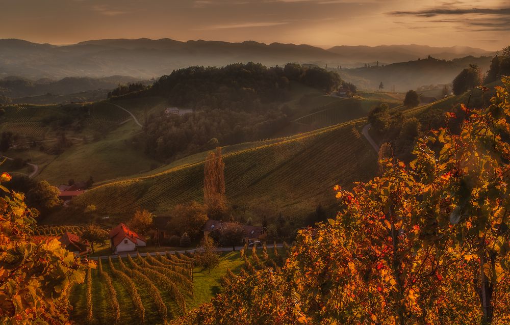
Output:
M432 131L414 151L421 178L437 184L429 188L427 196L446 208L437 216L438 235L454 238L458 254L474 260L468 269L479 296L482 321L488 324L493 322L494 293L504 290L501 280L509 270L508 250L503 247L510 243L510 79L502 81L506 89L496 87L487 109L462 105L467 118L460 134L449 128ZM448 113L447 117L456 115ZM435 141L439 147L430 145Z

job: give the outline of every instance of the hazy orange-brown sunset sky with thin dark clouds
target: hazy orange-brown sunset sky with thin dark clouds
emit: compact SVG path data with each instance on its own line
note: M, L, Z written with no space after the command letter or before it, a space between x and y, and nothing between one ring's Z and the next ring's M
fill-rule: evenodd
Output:
M0 0L0 38L510 45L510 0Z

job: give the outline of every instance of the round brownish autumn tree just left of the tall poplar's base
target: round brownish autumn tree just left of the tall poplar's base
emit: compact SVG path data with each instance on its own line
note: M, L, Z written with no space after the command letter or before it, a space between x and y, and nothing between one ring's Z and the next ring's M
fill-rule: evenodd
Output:
M195 239L201 233L202 226L207 220L206 208L200 203L193 201L187 205L177 204L172 211L172 219L167 229L178 235L186 232Z

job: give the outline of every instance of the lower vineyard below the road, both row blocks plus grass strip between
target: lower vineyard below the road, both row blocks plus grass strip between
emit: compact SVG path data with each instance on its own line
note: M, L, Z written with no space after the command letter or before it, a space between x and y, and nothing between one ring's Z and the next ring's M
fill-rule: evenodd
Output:
M159 254L100 260L85 283L71 292L71 318L78 324L159 324L209 301L235 274L283 265L289 247L223 254L209 274L192 254Z

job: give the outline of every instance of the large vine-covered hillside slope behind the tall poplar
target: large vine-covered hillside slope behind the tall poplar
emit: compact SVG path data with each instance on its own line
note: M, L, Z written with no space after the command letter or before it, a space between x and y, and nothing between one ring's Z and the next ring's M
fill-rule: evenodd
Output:
M376 156L359 128L345 123L224 156L226 195L237 204L270 205L283 213L309 213L335 200L335 184L350 185L375 170ZM75 199L112 214L167 211L201 200L203 161L145 177L98 186ZM171 193L172 195L169 195Z

